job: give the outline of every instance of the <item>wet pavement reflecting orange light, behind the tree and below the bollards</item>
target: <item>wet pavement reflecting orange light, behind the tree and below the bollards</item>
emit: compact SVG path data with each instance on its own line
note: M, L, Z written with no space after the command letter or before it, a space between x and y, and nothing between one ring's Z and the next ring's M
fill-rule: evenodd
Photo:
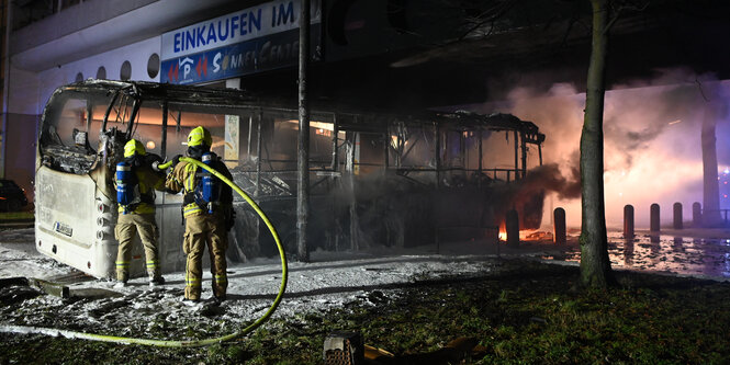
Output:
M577 237L573 237L577 241ZM659 235L637 231L632 239L608 232L608 255L614 269L661 272L675 275L730 278L730 230L664 230ZM577 244L546 260L580 262Z

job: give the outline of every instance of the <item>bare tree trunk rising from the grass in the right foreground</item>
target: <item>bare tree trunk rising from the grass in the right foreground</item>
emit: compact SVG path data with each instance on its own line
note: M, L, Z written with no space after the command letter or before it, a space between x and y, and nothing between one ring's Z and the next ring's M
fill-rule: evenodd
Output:
M581 285L606 287L613 282L606 237L604 202L604 94L608 2L591 0L593 7L593 47L588 66L585 118L581 134Z

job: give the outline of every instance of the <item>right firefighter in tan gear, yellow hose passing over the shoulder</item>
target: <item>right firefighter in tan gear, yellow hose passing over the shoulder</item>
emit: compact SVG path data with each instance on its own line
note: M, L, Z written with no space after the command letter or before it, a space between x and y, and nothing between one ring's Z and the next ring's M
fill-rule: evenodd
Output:
M207 129L192 129L188 135L188 157L200 160L232 179L226 166L211 152L211 133ZM184 196L182 214L186 232L182 250L188 255L184 299L200 300L202 258L207 246L213 296L216 301L225 300L228 287L225 252L228 248L227 232L233 226L233 190L204 169L184 161L175 166L165 185L172 193L182 191Z

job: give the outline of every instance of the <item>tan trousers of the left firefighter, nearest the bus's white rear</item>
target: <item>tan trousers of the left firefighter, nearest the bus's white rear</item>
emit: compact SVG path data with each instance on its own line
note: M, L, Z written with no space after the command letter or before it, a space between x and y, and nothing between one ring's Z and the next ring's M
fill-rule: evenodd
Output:
M145 249L147 274L150 278L160 277L159 251L157 238L157 223L155 214L120 214L114 228L114 236L120 242L116 252L116 280L126 282L130 278L130 263L132 262L132 242L139 233L142 246Z

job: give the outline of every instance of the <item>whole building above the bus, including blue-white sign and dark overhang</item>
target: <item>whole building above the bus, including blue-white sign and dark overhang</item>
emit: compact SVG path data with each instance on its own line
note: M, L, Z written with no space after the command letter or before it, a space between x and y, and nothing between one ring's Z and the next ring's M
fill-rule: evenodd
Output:
M0 174L33 191L53 91L88 78L234 87L296 101L301 0L2 0ZM311 0L310 101L403 111L504 100L519 82L584 88L589 12L571 1ZM622 14L608 82L656 68L730 75L728 4ZM711 16L712 15L712 16ZM682 27L675 24L683 24Z

